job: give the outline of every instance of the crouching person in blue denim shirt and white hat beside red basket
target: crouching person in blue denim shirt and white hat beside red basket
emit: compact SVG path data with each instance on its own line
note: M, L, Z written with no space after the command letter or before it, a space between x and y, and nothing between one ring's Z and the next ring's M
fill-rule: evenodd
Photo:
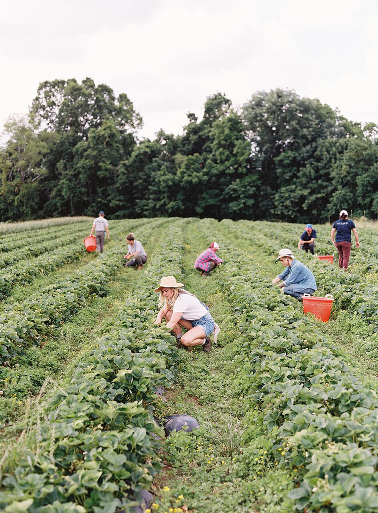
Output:
M282 287L284 294L292 295L302 301L303 294L312 294L317 289L315 277L310 269L294 257L291 249L281 249L278 257L285 266L284 272L278 274L273 284ZM282 281L282 283L280 283Z

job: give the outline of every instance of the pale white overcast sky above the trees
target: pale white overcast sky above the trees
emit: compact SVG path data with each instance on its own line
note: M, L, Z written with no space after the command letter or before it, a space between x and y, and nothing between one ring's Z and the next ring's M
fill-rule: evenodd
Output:
M125 92L140 136L181 133L225 92L295 89L378 123L376 0L15 0L1 3L0 124L39 82L89 76Z

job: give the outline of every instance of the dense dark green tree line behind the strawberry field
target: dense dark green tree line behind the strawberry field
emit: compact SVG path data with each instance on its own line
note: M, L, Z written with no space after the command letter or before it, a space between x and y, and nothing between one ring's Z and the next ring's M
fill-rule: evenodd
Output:
M180 135L138 139L127 94L91 78L39 84L4 126L3 221L67 215L326 222L378 217L378 127L275 89L234 108L217 92Z

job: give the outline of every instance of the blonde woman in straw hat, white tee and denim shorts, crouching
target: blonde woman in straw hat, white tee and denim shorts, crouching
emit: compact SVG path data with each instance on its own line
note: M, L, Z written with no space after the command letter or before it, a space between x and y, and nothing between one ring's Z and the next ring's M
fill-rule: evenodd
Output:
M211 350L210 333L214 331L214 340L220 331L211 314L194 294L184 290L184 284L176 282L174 276L163 276L155 292L160 292L159 306L155 324L163 318L167 328L171 328L176 338L186 347L202 345L204 351ZM181 326L187 329L183 334Z

